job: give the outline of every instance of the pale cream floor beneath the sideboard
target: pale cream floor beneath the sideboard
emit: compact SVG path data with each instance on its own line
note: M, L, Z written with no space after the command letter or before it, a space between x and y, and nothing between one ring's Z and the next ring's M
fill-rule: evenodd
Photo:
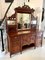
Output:
M9 52L1 51L0 42L0 60L45 60L45 39L43 39L42 47L26 49L22 51L22 54L20 54L20 52L13 54L11 58Z

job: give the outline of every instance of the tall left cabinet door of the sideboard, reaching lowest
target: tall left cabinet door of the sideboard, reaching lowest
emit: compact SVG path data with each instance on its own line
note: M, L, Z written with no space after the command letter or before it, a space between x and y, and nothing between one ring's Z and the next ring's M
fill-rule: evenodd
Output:
M10 39L11 41L11 52L16 53L20 51L20 40L19 37L13 36Z

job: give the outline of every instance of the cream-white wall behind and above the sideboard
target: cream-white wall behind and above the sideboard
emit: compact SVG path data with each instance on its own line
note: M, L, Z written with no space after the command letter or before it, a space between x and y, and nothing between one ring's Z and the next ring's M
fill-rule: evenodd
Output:
M31 8L34 8L36 10L36 15L38 16L38 20L40 22L40 26L41 26L41 15L42 15L42 5L43 5L43 0L30 0L30 2L27 2L27 0L14 0L10 10L8 11L7 16L11 16L14 13L14 8L17 6L22 6L24 1L26 2L26 4L28 4ZM10 3L5 3L5 0L0 0L0 19L2 19L4 17L4 14L9 6ZM38 14L37 14L38 13ZM41 27L39 27L41 28Z

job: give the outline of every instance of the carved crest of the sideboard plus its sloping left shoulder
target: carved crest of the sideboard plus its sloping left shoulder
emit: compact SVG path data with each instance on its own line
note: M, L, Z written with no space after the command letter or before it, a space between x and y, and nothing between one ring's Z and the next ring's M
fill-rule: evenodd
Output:
M15 13L9 16L8 17L9 19L16 18L16 12L32 14L35 11L33 8L30 8L28 5L23 5L22 7L18 6L14 10Z

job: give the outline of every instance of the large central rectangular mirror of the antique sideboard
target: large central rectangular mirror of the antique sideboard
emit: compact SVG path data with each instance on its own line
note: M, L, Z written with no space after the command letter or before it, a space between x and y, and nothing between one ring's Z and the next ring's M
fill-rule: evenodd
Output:
M17 13L17 24L18 29L30 29L31 14L28 13Z

